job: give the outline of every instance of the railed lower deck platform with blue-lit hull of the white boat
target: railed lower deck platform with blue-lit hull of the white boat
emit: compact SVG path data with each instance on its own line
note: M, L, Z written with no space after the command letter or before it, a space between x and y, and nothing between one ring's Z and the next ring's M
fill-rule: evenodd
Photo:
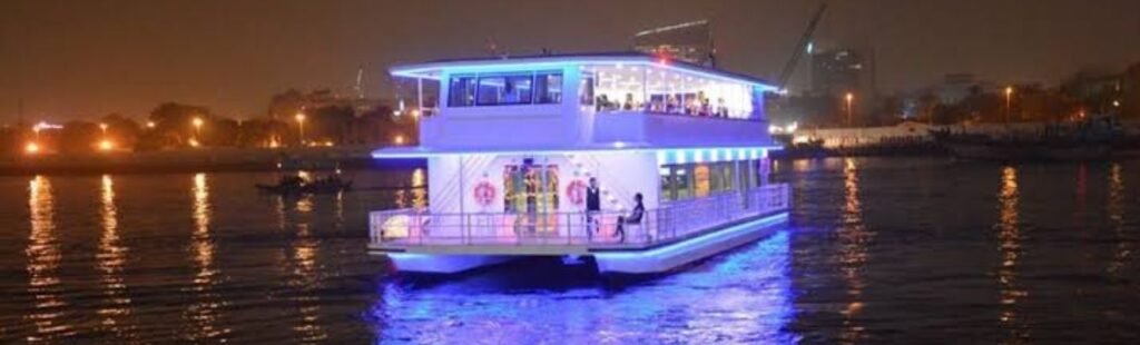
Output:
M764 237L788 220L787 184L662 204L628 214L370 214L369 250L401 271L453 273L519 256L591 256L602 272L671 270Z

